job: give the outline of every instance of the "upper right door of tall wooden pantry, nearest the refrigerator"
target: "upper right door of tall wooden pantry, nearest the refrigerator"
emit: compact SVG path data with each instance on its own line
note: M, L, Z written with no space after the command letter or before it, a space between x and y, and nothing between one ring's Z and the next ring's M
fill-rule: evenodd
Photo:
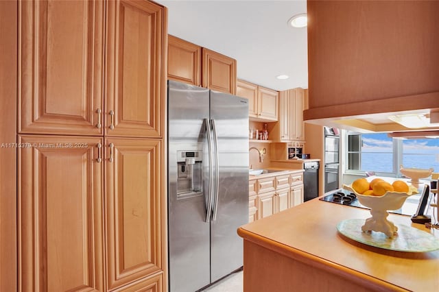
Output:
M105 134L161 137L166 10L150 1L107 3Z

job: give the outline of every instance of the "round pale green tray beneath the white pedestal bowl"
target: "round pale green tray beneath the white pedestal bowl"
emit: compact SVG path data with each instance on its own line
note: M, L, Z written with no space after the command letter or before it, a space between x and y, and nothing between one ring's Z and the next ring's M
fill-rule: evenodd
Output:
M359 243L398 252L433 252L439 250L439 239L423 230L396 224L398 234L389 238L383 232L361 231L364 219L346 219L337 224L337 230Z

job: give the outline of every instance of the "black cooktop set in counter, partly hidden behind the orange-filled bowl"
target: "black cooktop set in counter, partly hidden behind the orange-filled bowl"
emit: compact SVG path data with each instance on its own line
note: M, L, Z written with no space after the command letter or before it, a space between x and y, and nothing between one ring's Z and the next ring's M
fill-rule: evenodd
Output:
M357 196L354 193L351 193L350 191L346 191L345 189L333 191L333 193L330 193L329 195L325 195L324 197L321 197L320 201L330 202L330 203L334 203L334 204L342 204L342 205L352 206L352 207L357 207L357 208L370 209L364 205L361 205L357 199ZM413 202L413 203L414 203L414 206L406 206L406 207L403 206L403 208L401 208L401 209L392 210L389 212L395 213L395 214L412 216L415 213L418 200L416 202ZM407 205L407 204L405 204L405 205Z

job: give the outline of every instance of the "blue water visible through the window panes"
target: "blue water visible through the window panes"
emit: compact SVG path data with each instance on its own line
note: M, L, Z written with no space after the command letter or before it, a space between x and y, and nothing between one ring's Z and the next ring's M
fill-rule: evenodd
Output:
M361 170L393 172L392 153L361 152ZM403 166L418 169L434 168L439 172L439 154L403 154ZM398 166L399 168L399 166Z

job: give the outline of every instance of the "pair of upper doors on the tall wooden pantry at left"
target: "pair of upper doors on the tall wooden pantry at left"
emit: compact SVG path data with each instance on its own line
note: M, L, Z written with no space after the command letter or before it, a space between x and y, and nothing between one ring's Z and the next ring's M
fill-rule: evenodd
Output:
M19 14L19 133L161 137L163 6L19 1Z

